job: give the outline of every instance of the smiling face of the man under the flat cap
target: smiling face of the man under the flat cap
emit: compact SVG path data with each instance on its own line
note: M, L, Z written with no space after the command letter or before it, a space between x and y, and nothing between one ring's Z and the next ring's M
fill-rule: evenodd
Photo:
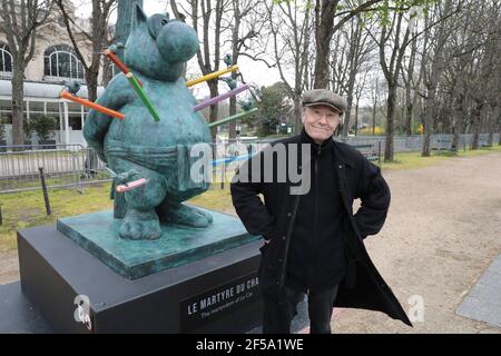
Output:
M302 121L306 134L316 142L322 144L330 138L340 125L341 115L325 105L306 107Z

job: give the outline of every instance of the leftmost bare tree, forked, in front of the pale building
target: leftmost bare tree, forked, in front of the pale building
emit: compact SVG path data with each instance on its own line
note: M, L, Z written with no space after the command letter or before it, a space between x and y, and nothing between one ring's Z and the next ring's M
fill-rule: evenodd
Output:
M37 31L48 19L52 1L2 0L0 19L12 56L12 142L22 145L24 138L22 102L24 71L33 58Z

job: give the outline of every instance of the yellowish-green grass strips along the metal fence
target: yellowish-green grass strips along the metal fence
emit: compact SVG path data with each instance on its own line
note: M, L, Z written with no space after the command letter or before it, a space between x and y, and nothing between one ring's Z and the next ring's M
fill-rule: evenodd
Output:
M477 157L490 152L501 152L501 147L497 145L478 151L459 151L458 155L434 151L431 157L421 157L420 152L396 154L394 162L382 162L381 166L383 170L423 168L455 157ZM229 180L230 176L232 174L228 174L226 179ZM220 184L214 184L207 192L188 202L222 212L234 212L229 184L225 185L225 189L220 189L219 186ZM41 190L0 195L3 217L3 225L0 226L0 253L17 248L18 229L51 225L60 217L111 209L109 189L110 184L86 187L84 194L73 189L49 189L51 216L46 215Z

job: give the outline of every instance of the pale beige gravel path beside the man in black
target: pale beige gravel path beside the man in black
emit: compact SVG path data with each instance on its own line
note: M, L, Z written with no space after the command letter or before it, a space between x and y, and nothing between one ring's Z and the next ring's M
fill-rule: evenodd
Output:
M410 298L423 298L424 320L410 328L381 313L345 309L334 319L335 333L500 334L454 310L501 254L501 154L384 177L392 190L390 214L366 246L406 310ZM17 279L16 251L0 253L0 284Z

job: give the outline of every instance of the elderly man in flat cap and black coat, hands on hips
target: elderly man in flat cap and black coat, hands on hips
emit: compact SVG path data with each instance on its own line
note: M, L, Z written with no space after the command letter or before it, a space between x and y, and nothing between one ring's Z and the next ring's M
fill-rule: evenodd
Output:
M348 145L333 140L345 108L345 100L330 90L307 91L301 135L274 142L273 148L286 148L287 157L295 155L288 149L293 145L310 146L306 167L296 167L306 169L310 177L310 189L303 194L287 190L291 180L263 181L263 174L269 172L263 172L266 162L253 165L256 158L240 169L249 177L243 179L238 172L232 182L233 204L244 226L264 237L258 271L264 333L289 333L296 305L305 294L311 333L331 333L333 306L381 310L411 325L363 245L384 224L390 189L376 166ZM291 161L272 159L267 167L273 167L273 177L283 169L279 161ZM356 198L362 206L354 215Z

